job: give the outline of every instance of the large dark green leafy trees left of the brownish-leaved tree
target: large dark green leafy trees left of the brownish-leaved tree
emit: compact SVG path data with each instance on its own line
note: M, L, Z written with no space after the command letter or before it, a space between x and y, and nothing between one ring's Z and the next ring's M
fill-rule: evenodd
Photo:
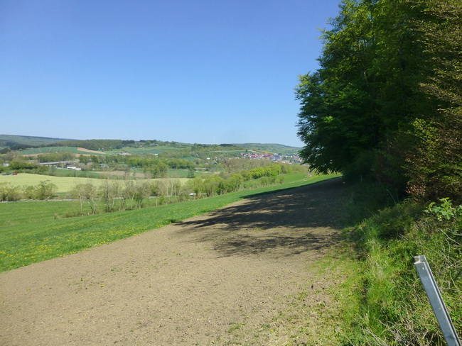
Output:
M320 68L296 88L301 157L312 168L404 189L403 138L424 99L416 13L408 0L340 3L332 29L323 32Z

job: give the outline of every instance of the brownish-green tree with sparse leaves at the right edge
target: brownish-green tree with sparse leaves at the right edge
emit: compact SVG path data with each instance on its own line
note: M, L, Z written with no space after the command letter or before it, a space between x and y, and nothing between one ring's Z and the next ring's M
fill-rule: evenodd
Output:
M409 151L409 189L424 199L462 200L462 1L415 0L424 43L421 90L431 100L414 121L417 145Z

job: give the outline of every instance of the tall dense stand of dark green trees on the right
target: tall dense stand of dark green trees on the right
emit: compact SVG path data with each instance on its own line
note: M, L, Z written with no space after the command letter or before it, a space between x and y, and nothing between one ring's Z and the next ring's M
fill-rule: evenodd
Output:
M462 1L343 0L300 77L301 156L424 199L462 196Z

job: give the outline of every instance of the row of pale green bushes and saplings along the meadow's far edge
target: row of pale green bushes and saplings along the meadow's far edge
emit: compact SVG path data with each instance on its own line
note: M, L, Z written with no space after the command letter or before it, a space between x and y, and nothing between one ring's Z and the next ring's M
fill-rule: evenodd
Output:
M243 170L235 174L203 174L202 177L188 179L182 184L180 179L136 180L105 179L96 186L91 182L78 183L69 191L72 199L80 201L80 213L109 213L142 208L147 199L155 197L155 205L175 203L188 199L227 194L240 189L281 184L284 177L278 177L281 165ZM252 184L246 185L246 182ZM13 186L0 184L0 201L19 199L49 199L55 194L56 186L50 182L41 182L38 186ZM150 203L152 205L152 202ZM87 212L85 211L87 210ZM71 213L70 216L77 214Z

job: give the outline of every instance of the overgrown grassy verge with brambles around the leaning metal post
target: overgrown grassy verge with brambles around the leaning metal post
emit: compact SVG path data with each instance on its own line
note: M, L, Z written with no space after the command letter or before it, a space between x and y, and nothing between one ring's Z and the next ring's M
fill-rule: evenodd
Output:
M377 184L354 191L349 215L362 221L346 232L362 269L347 304L344 345L446 345L414 267L417 255L426 256L462 335L462 206L447 198L394 203ZM390 206L372 213L371 206L385 200ZM372 216L363 218L367 213Z

